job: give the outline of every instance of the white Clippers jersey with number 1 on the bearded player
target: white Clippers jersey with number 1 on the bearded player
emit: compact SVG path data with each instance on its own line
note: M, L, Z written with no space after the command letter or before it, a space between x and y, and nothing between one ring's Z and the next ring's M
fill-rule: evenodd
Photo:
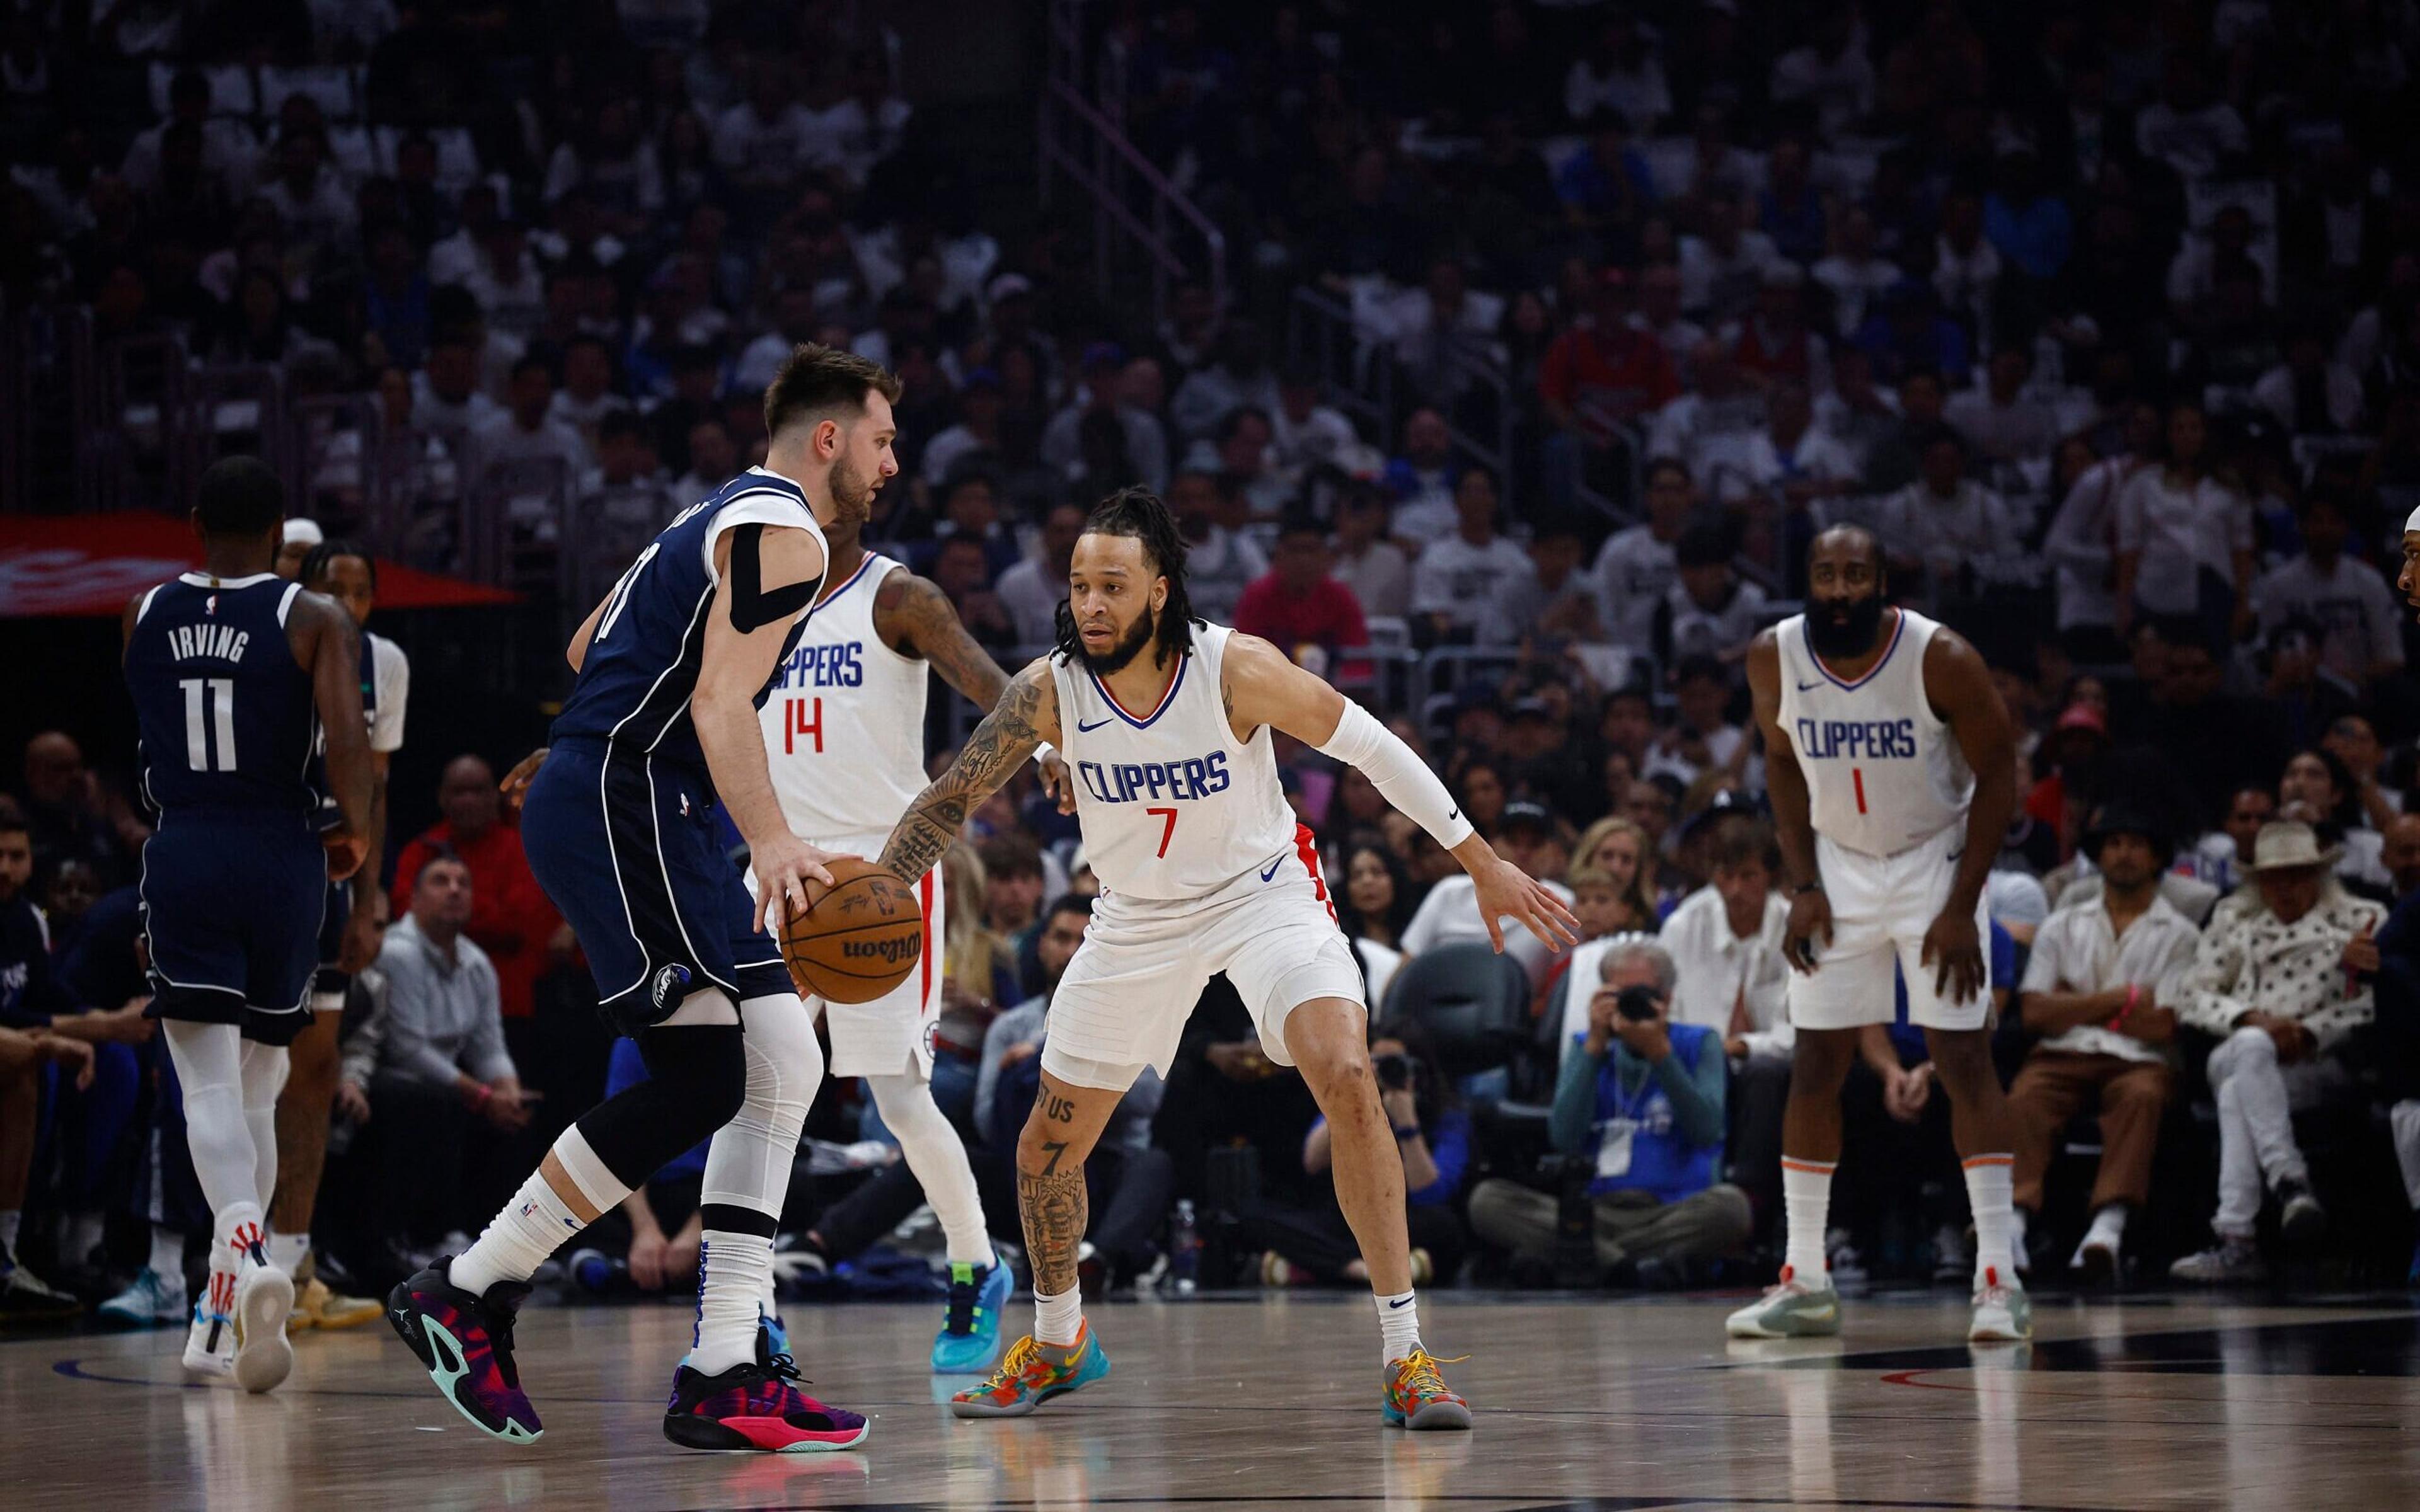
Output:
M1965 823L1975 774L1924 697L1924 648L1936 629L1900 610L1883 658L1844 682L1815 658L1805 614L1774 627L1781 728L1808 777L1815 832L1851 852L1892 856Z

